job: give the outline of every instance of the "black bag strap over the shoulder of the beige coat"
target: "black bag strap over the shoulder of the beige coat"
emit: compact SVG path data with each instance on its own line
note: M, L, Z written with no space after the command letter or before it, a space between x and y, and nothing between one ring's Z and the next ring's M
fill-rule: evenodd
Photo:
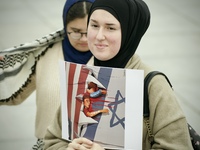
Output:
M147 74L147 76L145 77L144 79L144 104L143 104L143 116L144 117L149 117L149 94L148 94L148 86L149 86L149 83L151 81L151 79L156 76L156 75L163 75L167 82L169 83L169 85L172 87L172 84L170 83L169 79L167 78L167 76L160 72L160 71L152 71L152 72L149 72Z

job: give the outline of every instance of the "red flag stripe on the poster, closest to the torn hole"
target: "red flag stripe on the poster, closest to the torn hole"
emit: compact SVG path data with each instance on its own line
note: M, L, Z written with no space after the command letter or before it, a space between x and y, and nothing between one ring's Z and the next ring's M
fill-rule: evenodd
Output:
M89 70L83 69L83 66L82 66L76 95L83 94L85 92L85 82L86 82L88 73L89 73ZM82 101L76 99L76 110L75 110L75 116L74 116L74 137L77 137L75 133L78 134L78 121L79 121L81 104L82 104Z

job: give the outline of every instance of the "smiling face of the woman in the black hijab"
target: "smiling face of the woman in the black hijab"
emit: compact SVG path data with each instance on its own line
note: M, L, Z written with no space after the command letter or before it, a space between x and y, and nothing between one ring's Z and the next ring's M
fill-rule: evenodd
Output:
M88 46L93 55L106 61L117 55L121 46L119 21L109 12L97 9L89 20Z

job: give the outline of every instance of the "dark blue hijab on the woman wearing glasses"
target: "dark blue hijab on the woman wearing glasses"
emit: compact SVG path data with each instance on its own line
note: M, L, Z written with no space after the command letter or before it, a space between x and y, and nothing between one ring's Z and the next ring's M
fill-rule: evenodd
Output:
M86 1L86 2L91 2L91 3L94 2L94 0L67 0L65 2L65 6L63 9L63 28L65 31L65 37L62 41L62 47L63 47L63 55L64 55L65 61L79 63L79 64L86 64L88 60L91 58L92 53L90 51L87 51L87 52L77 51L70 44L67 33L66 33L66 17L67 17L68 10L73 4L77 2L81 2L81 1Z

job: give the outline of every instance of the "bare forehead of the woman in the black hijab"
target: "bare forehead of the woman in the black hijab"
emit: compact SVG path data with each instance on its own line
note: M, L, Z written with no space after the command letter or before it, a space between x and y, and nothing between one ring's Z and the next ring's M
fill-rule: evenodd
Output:
M95 10L91 14L90 21L119 24L119 21L111 13L103 9Z

